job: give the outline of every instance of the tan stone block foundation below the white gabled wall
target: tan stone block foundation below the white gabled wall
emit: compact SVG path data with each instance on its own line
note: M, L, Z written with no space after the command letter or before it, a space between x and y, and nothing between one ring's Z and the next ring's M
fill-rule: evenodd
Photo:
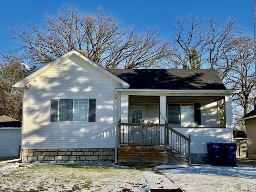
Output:
M115 162L115 150L110 149L23 149L23 163L88 163Z

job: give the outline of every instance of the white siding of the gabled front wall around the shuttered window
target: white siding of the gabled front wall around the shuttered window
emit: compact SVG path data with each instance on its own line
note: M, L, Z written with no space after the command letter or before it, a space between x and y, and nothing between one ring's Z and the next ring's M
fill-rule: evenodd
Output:
M22 148L114 148L115 88L122 88L94 66L71 56L24 91ZM95 98L96 122L50 122L52 98Z

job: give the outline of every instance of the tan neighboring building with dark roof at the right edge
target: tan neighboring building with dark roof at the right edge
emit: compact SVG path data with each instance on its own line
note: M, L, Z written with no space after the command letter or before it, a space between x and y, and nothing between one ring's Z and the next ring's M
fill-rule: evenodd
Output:
M248 158L256 159L256 109L243 116L247 132Z

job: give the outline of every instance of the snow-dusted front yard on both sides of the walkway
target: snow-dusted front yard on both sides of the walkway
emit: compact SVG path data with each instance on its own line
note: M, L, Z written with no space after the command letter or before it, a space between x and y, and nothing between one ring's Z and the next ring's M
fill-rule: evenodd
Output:
M110 168L102 172L88 168L86 165L79 167L48 165L48 167L40 164L32 164L31 167L29 164L2 166L0 191L150 191L143 172L128 167L110 164ZM156 166L155 170L184 192L256 192L256 166L163 165ZM165 189L168 189L168 186L165 186Z

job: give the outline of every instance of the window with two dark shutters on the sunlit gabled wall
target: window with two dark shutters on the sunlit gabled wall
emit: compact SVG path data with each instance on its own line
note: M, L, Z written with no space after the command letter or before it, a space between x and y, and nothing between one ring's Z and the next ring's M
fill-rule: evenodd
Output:
M95 122L95 99L51 99L51 122Z

